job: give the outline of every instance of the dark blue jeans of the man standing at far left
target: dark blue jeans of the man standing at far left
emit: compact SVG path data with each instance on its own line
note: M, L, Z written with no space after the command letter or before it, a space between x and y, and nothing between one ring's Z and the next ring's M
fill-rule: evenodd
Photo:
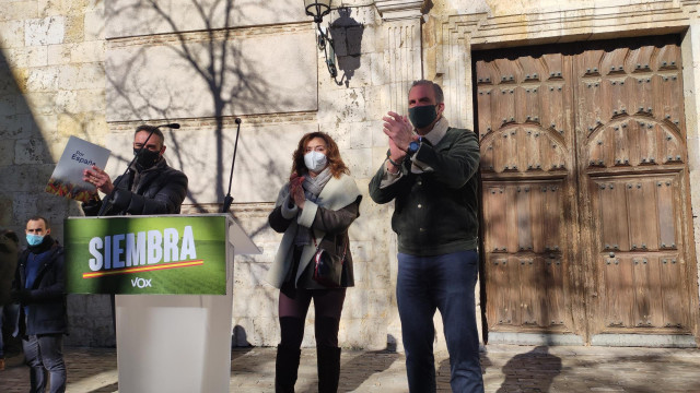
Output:
M50 376L50 393L66 392L66 364L63 362L63 335L40 334L22 340L26 365L30 366L31 393L44 393L46 371Z

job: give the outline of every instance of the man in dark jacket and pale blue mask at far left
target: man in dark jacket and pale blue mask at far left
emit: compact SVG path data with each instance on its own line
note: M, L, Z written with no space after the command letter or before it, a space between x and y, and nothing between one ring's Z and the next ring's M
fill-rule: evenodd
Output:
M49 392L66 391L63 334L68 332L63 248L50 236L44 217L26 223L28 247L20 255L11 297L20 303L15 335L30 366L31 392L44 392L48 371Z

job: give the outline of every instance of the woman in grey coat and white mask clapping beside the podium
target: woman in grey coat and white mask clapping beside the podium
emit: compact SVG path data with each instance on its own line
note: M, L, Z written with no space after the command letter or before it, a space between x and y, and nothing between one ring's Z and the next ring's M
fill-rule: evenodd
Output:
M338 145L328 134L304 135L293 154L290 181L280 190L268 218L273 230L284 234L267 276L280 289L276 392L294 392L304 320L312 299L316 310L318 392L338 390L340 314L346 288L354 285L348 228L360 216L362 200L348 172ZM314 278L312 259L318 249L343 261L337 287Z

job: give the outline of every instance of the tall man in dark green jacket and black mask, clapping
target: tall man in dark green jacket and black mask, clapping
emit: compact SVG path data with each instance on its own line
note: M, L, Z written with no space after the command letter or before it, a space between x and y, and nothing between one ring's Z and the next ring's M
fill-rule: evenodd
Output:
M370 182L376 203L395 202L396 295L411 392L435 391L433 315L450 350L453 392L483 392L474 289L478 274L479 143L442 117L442 88L416 81L408 117L383 118L389 150ZM413 127L411 127L411 123Z

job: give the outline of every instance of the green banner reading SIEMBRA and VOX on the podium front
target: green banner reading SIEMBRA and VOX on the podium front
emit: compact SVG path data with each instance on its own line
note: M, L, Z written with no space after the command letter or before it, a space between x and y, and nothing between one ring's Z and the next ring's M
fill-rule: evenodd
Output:
M224 216L68 218L70 294L224 295Z

